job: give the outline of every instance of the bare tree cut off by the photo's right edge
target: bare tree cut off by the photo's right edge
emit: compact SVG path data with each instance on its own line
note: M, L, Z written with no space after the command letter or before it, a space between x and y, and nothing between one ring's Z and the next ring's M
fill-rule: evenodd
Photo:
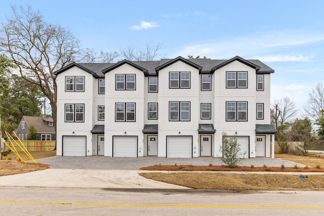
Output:
M304 112L307 118L313 123L316 119L323 117L324 110L324 87L322 83L318 83L309 94L308 101L304 105Z

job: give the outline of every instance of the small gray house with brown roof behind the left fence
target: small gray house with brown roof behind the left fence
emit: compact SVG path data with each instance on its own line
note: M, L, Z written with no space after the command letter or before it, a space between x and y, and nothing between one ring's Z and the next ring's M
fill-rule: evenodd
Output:
M53 118L43 118L37 116L23 116L16 130L16 134L20 140L27 140L30 125L36 128L37 140L55 141L55 127Z

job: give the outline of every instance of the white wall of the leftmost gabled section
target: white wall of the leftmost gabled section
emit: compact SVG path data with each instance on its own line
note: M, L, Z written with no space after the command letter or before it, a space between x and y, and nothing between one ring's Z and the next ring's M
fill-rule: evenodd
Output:
M85 76L84 92L65 92L65 76ZM62 155L63 136L87 136L87 156L93 155L93 90L95 78L88 72L72 67L57 76L57 155ZM65 122L65 104L85 104L84 122ZM74 133L73 133L74 132Z

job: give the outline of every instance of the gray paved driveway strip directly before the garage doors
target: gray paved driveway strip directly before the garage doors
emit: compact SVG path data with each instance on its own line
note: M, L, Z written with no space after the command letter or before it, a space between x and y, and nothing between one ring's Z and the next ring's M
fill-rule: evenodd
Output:
M197 158L163 158L163 157L105 157L105 156L56 156L44 159L37 159L39 163L50 164L53 169L106 169L106 170L139 170L143 166L155 164L162 165L222 165L219 158L197 157ZM296 163L271 158L249 158L242 161L243 166L281 166L292 167ZM303 164L298 164L304 167Z

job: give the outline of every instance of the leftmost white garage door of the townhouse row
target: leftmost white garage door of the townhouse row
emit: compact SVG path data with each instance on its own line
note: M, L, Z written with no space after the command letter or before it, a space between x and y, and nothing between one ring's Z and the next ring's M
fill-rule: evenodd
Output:
M85 136L64 136L63 156L86 156Z

